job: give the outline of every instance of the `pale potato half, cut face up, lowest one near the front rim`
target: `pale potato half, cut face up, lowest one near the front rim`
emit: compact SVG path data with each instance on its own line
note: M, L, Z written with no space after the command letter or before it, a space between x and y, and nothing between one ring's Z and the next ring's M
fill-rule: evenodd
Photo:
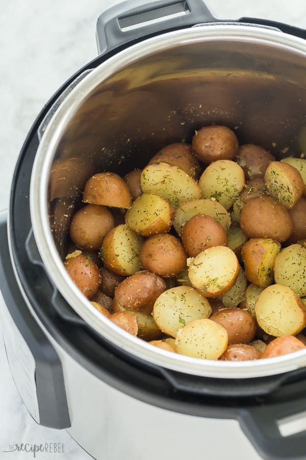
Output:
M227 347L226 330L211 319L194 319L179 329L176 352L200 359L218 359Z

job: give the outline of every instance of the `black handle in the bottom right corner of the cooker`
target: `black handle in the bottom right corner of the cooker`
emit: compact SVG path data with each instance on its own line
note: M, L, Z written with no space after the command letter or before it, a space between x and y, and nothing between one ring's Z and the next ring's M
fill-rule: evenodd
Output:
M306 458L306 397L241 409L238 420L249 441L267 460Z

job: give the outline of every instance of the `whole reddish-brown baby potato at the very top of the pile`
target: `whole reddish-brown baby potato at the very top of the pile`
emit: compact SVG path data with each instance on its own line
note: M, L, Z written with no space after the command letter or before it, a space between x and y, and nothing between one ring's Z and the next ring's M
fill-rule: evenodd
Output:
M192 151L205 165L219 159L233 159L238 152L235 133L226 126L204 126L195 131Z

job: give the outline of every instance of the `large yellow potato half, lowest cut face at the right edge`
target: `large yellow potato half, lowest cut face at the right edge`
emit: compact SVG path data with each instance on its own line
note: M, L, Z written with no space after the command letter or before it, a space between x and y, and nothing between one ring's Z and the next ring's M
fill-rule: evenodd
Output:
M255 312L259 326L274 337L296 335L306 325L305 305L295 292L281 284L263 290Z

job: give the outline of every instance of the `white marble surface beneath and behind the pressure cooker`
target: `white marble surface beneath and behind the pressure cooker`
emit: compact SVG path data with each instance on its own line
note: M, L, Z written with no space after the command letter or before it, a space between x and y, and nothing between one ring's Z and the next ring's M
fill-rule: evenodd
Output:
M118 0L1 1L0 210L7 208L14 164L35 117L55 90L96 56L96 18L116 3ZM221 18L263 17L306 28L304 0L207 0L207 5ZM33 458L27 453L4 453L10 444L63 442L65 454L37 454L37 458L89 459L65 431L47 429L32 420L15 389L2 340L0 369L0 458Z

